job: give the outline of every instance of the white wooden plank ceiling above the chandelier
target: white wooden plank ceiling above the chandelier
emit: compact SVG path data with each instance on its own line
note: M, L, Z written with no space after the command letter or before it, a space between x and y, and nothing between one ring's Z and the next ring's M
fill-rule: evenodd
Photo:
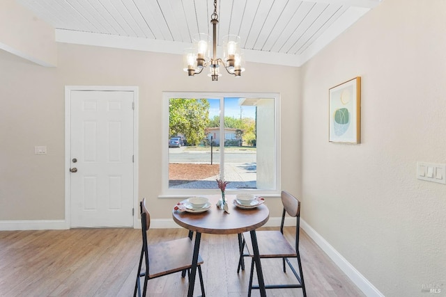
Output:
M192 43L197 33L212 35L212 0L16 1L58 31L182 44ZM351 11L356 10L363 15L379 2L219 0L217 37L221 40L224 35L235 34L240 36L244 49L299 56L305 54L324 33L330 32L330 27L339 26L343 17L348 19L346 14L351 15ZM355 20L353 17L351 22ZM336 30L332 31L338 34Z

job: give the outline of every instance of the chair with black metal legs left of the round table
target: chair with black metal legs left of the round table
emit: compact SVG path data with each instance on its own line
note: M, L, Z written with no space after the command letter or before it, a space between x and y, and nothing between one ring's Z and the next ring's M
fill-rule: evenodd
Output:
M140 278L144 277L142 296L146 296L148 280L180 271L187 271L187 276L189 276L194 246L189 237L148 245L147 231L151 225L151 216L146 209L146 198L139 203L139 207L141 208L142 248L133 296L137 296L138 293L138 296L141 297ZM143 259L146 271L141 272ZM197 268L200 278L201 294L202 296L206 296L204 293L201 264L203 264L203 259L199 256ZM185 273L183 273L182 277L185 277Z

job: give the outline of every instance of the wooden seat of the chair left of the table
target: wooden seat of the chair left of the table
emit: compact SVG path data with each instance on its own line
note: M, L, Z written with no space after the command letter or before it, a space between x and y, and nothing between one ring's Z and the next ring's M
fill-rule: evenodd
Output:
M150 271L148 278L176 273L190 268L194 246L189 238L176 239L173 241L161 242L155 245L148 245L148 263ZM185 255L190 257L185 257ZM198 265L203 264L203 259L199 256Z

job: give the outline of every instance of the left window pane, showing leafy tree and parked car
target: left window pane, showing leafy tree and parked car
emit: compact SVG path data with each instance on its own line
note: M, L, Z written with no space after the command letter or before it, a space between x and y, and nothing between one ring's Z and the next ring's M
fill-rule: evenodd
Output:
M213 139L219 128L215 135L208 129L220 123L219 104L219 99L169 99L169 188L217 188L220 154ZM175 136L184 143L172 143Z

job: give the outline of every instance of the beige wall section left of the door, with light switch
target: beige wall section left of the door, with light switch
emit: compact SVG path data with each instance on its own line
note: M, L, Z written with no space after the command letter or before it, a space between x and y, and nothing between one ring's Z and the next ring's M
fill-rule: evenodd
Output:
M59 69L0 50L0 221L64 216L64 104ZM47 145L47 155L35 155Z

